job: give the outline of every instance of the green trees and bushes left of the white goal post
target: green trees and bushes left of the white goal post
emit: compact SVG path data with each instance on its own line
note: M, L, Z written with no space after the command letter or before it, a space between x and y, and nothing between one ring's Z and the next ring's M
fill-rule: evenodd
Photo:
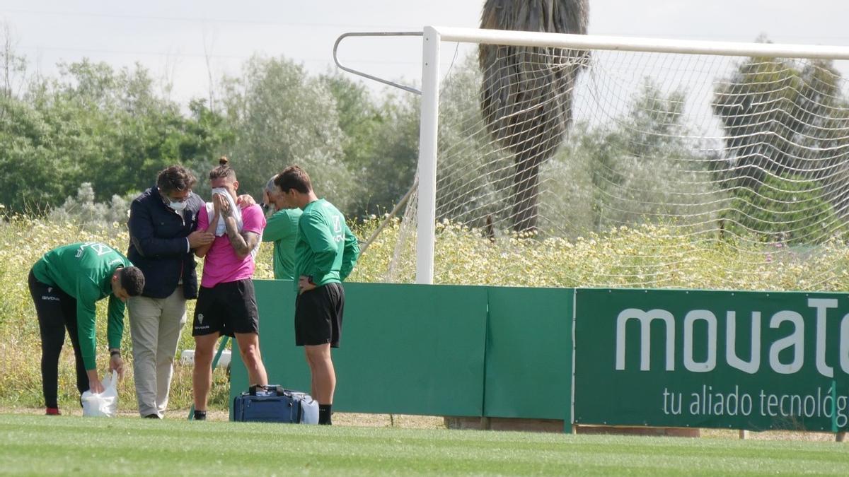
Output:
M61 65L58 77L26 76L24 59L2 54L0 77L22 82L0 86L0 205L10 212L53 210L83 182L95 202L133 197L175 163L195 172L205 195L222 154L255 196L284 166L305 166L319 194L349 216L391 208L413 183L412 95L376 100L346 76L255 57L241 76L219 81L214 103L183 105L141 66L84 60Z

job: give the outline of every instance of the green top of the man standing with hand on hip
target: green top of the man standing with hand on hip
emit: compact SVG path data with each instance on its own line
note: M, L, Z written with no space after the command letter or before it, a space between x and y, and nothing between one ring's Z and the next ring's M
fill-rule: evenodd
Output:
M312 277L316 286L341 283L359 255L357 237L333 204L318 199L304 207L295 242L295 290L301 276Z

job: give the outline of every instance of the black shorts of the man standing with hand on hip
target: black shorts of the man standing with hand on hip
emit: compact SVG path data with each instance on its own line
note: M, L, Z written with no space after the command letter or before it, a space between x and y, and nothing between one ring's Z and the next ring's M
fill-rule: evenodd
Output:
M295 300L295 345L329 343L331 348L338 348L344 309L345 289L341 283L327 283L298 295Z

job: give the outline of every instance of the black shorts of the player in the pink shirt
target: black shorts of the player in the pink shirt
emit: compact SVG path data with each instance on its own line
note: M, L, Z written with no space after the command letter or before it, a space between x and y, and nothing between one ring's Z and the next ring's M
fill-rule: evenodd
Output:
M254 282L250 278L218 283L211 289L200 287L194 306L192 336L220 333L259 333Z

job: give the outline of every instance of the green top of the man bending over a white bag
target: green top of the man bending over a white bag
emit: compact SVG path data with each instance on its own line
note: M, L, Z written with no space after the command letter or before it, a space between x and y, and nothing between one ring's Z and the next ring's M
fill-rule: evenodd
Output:
M57 286L76 298L76 328L86 370L97 368L94 339L95 303L109 296L106 335L110 348L121 347L124 333L124 302L112 295L111 278L118 267L132 267L127 257L98 242L81 242L50 250L32 266L32 274L44 284Z

